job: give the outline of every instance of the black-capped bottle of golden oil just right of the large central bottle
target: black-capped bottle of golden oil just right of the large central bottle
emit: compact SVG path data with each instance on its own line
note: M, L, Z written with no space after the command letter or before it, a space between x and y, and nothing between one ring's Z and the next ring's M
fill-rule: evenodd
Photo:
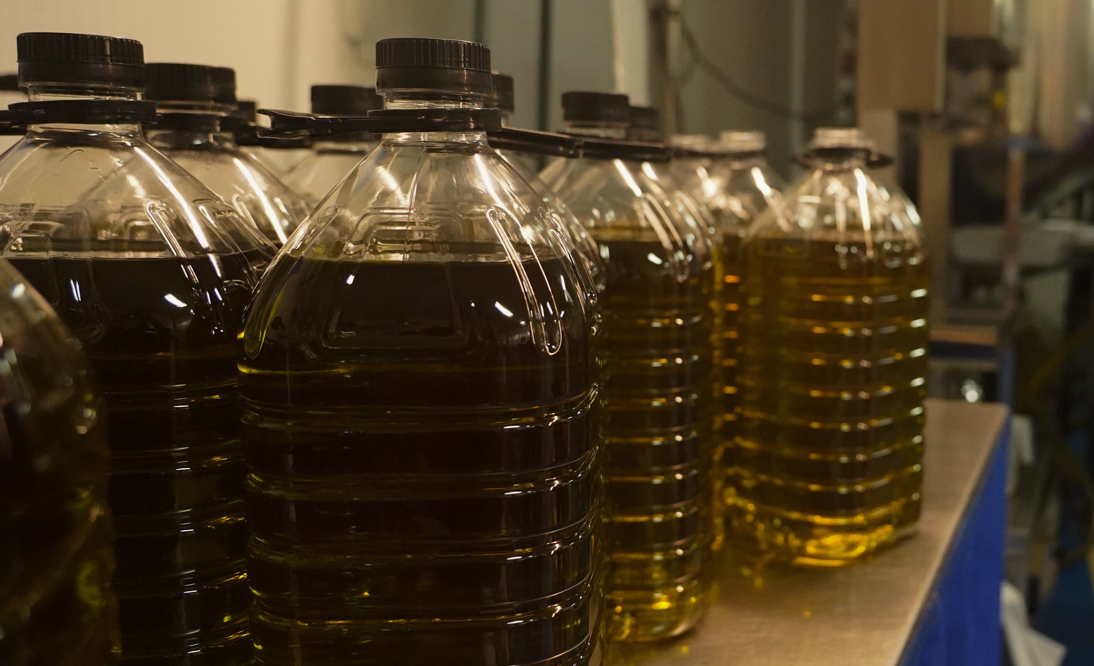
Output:
M626 95L562 95L566 131L626 136ZM647 163L648 164L648 163ZM713 261L642 162L581 157L545 174L601 248L608 634L650 641L701 617L708 589Z

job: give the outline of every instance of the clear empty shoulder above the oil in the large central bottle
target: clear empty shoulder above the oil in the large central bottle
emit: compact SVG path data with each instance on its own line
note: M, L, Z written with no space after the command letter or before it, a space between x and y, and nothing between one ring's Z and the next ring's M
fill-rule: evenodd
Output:
M446 246L511 258L572 249L556 247L551 226L543 199L488 147L385 142L315 209L292 248L430 261Z

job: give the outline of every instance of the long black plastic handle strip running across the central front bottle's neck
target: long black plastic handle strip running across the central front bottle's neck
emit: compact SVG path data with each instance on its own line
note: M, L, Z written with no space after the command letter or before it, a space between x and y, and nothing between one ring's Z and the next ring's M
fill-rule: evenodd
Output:
M317 116L274 109L259 109L269 116L270 128L260 130L267 139L306 139L370 132L486 132L487 141L498 150L596 160L636 160L667 162L672 151L663 143L619 139L575 137L556 132L502 127L496 108L409 108L371 110L366 116Z

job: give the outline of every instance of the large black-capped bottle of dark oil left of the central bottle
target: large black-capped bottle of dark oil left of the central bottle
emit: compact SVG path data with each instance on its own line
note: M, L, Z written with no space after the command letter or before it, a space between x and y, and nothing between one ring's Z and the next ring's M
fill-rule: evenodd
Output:
M247 659L235 351L272 247L144 142L139 42L19 36L33 118L0 159L0 253L72 330L109 410L123 658Z

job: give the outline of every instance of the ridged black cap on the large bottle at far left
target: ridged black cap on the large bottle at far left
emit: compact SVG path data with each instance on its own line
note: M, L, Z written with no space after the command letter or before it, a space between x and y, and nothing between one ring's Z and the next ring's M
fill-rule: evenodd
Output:
M141 90L144 47L136 39L73 33L15 37L19 84L57 83Z

